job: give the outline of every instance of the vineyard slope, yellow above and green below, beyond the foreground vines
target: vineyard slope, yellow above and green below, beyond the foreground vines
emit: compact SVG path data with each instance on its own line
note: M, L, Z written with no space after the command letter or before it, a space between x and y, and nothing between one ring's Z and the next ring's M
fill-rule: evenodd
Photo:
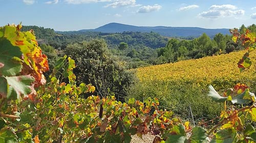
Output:
M240 73L237 67L237 62L244 53L245 51L232 52L138 68L139 82L130 89L129 98L158 98L160 107L173 110L183 118L189 117L188 107L191 107L195 120L210 120L220 115L223 104L218 104L207 96L209 84L220 94L237 83L245 83L251 92L255 92L254 72L247 70ZM251 59L255 57L255 53L252 53Z

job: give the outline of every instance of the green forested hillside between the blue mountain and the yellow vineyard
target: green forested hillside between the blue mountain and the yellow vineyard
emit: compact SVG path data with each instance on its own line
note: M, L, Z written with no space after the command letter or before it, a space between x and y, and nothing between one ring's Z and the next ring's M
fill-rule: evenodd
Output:
M240 32L245 32L244 25ZM241 43L234 43L230 35L216 34L210 38L203 33L190 40L163 37L157 33L122 32L101 33L90 31L55 32L36 26L24 26L25 30L33 29L39 44L53 46L54 49L65 50L69 44L104 39L111 53L128 63L129 68L137 68L162 63L172 63L186 59L198 59L206 56L226 54L242 49ZM256 26L248 27L256 31ZM61 55L61 54L60 54Z

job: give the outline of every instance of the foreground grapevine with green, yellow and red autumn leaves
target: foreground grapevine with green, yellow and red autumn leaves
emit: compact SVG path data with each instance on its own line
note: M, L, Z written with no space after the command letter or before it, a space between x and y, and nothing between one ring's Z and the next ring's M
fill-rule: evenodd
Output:
M225 104L220 122L211 130L191 127L172 111L159 109L157 98L143 102L114 96L80 98L94 92L91 84L76 85L75 62L60 58L47 82L47 57L41 54L33 31L21 25L0 28L0 142L130 142L131 135L151 133L156 142L256 142L255 95L245 84L227 89L222 96L210 86L209 96ZM256 35L233 31L248 53ZM238 65L251 66L249 54ZM227 102L239 104L241 108Z

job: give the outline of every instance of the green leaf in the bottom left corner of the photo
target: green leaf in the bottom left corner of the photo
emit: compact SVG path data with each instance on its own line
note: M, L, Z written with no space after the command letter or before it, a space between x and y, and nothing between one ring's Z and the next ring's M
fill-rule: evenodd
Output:
M0 142L1 143L15 143L17 142L17 136L13 129L3 128L0 130Z

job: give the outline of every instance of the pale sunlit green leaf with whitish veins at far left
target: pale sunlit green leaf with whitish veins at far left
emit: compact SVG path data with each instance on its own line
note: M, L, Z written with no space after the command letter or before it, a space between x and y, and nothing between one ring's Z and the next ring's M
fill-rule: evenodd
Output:
M9 86L9 91L7 93L8 99L20 99L22 97L27 97L33 89L32 82L34 78L30 75L27 76L17 76L17 77L6 77Z

